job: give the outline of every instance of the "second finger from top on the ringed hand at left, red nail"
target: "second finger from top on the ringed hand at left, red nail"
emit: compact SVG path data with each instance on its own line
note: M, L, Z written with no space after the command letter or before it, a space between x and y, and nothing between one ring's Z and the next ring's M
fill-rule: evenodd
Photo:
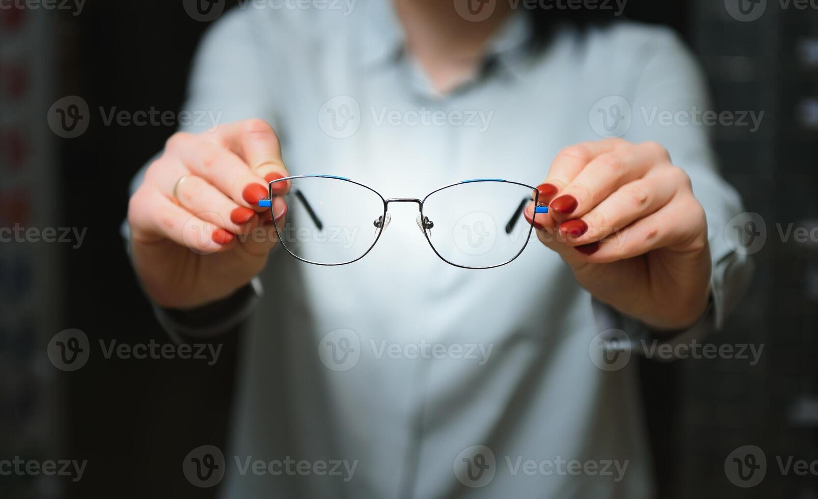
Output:
M173 135L165 147L197 177L204 178L236 205L262 212L258 200L267 197L267 181L253 173L236 153L222 146L216 137Z

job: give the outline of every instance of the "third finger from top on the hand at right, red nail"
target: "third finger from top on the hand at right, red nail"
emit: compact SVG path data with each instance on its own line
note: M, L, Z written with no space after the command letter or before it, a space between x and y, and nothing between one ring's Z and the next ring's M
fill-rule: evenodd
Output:
M654 171L620 187L582 218L561 223L559 229L566 244L587 245L622 231L667 205L679 186L687 182L687 175L677 167Z

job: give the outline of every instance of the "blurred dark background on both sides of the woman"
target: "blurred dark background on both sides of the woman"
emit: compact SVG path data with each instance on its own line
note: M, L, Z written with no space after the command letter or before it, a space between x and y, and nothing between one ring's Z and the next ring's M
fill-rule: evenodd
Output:
M227 2L228 5L236 2ZM764 110L756 133L716 128L726 178L766 222L752 291L714 342L764 344L762 362L643 362L660 497L818 497L818 478L768 472L738 488L724 471L736 447L818 459L816 241L782 241L776 224L815 227L818 11L780 8L739 22L721 0L630 0L631 19L670 25L699 55L715 109ZM181 1L90 0L71 11L0 10L0 227L88 227L70 245L0 245L0 459L88 460L83 479L0 477L0 497L213 497L181 462L222 447L237 331L219 362L92 356L74 372L43 362L48 340L78 328L95 339L166 343L121 243L128 182L173 126L105 126L77 138L48 130L48 108L83 97L92 112L182 104L207 29ZM97 348L92 344L92 348Z

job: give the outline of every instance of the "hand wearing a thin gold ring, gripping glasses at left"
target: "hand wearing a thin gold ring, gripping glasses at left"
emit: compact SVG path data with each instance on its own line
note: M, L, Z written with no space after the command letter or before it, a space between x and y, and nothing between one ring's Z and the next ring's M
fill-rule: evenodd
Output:
M286 212L276 202L273 220L258 200L268 182L288 175L278 137L261 119L170 137L128 205L133 267L151 300L196 308L258 274Z

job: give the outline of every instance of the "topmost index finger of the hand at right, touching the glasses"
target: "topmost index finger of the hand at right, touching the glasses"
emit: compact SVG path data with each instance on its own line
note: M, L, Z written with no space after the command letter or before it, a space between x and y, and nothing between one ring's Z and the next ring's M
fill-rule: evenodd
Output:
M548 175L545 180L537 186L539 196L537 203L539 205L548 205L551 200L569 183L577 177L577 175L598 155L613 151L624 143L619 139L606 139L594 142L582 142L573 146L565 147L548 169ZM533 206L529 207L529 213L533 212ZM550 214L538 214L535 218L537 223L542 227L555 227L554 218Z

